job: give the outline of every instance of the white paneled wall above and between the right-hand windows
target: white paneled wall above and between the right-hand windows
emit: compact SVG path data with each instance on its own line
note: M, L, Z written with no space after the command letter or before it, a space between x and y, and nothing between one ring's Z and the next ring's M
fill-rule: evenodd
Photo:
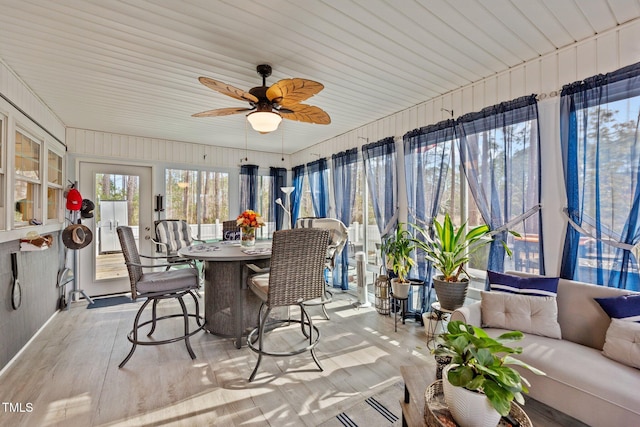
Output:
M532 93L540 97L539 119L542 156L542 215L547 274L558 274L566 221L564 179L559 139L559 93L562 86L595 74L604 74L640 62L640 20L513 67L381 120L369 123L336 138L324 141L291 156L291 165L360 147L367 142L394 136L402 167L402 136L413 129L434 124L484 107ZM448 111L445 111L448 110ZM402 179L401 186L402 186ZM406 218L406 189L400 188L400 217Z

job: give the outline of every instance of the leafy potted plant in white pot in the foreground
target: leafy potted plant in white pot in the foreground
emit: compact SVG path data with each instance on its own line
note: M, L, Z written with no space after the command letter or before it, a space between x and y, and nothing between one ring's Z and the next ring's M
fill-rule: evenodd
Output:
M500 416L506 416L515 399L524 404L522 393L528 393L529 382L509 365L521 366L537 375L544 372L512 357L522 353L522 347L508 347L506 343L521 340L520 331L506 332L497 338L491 338L478 327L459 320L449 322L447 331L437 340L433 350L436 356L450 356L451 364L443 371L442 382L445 402L453 418L461 426L497 425ZM463 393L461 397L458 394ZM463 405L456 400L463 399ZM477 400L478 405L470 403ZM473 411L488 408L490 420L479 413L465 413L465 408ZM477 409L481 408L481 409ZM473 412L472 411L472 412ZM495 419L495 421L493 421Z

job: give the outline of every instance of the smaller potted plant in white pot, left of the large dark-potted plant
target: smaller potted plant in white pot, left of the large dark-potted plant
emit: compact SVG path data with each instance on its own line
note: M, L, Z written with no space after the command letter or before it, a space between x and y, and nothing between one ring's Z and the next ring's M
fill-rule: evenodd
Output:
M399 222L395 234L390 235L382 242L380 252L382 259L386 260L387 269L391 269L395 278L391 279L391 290L396 298L407 298L411 282L407 279L409 270L415 265L411 258L414 249L414 239L411 233Z

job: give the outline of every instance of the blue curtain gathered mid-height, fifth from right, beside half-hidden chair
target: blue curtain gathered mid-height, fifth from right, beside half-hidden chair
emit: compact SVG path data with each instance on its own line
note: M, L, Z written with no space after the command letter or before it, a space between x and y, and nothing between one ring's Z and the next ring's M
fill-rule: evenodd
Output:
M356 200L356 175L358 149L343 151L331 156L333 163L333 194L336 201L336 216L347 227L351 223L351 210ZM349 289L349 245L345 245L333 271L333 287Z

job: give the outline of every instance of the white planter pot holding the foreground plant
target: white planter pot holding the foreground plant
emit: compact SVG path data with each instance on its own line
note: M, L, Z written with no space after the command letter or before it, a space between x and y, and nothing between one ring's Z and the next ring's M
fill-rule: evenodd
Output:
M453 419L461 427L496 427L500 413L484 394L451 385L447 375L452 367L449 365L442 371L442 389Z

